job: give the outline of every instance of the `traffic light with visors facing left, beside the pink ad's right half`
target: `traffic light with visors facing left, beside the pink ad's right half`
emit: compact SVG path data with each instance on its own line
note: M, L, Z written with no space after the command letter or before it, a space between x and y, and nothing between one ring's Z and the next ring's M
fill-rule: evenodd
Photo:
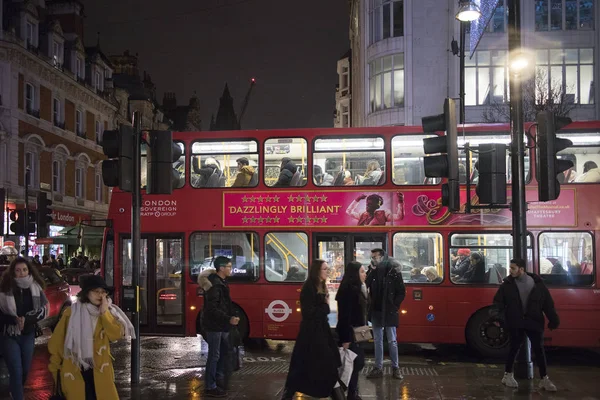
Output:
M458 177L458 135L456 132L456 106L454 100L444 101L444 113L423 117L423 132L446 131L446 136L423 139L425 154L438 154L423 159L425 176L447 178L442 185L442 204L450 211L460 209L460 184Z

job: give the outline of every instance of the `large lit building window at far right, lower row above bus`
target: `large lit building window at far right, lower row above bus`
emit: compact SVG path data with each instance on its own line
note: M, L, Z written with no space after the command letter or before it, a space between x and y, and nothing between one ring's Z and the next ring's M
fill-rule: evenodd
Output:
M537 50L535 75L538 101L595 102L593 49Z

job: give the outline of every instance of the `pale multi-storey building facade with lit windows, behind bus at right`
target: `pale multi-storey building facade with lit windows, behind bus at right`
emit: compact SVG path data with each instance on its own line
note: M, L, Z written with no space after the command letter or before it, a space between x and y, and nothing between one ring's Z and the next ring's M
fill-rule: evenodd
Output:
M460 35L458 3L352 0L352 126L419 125L423 116L442 111L445 97L459 97L459 58L451 50ZM466 59L468 123L490 122L490 109L508 104L506 5L500 1L473 57ZM572 103L574 120L600 119L598 1L523 0L521 13L531 90L536 96L560 93Z

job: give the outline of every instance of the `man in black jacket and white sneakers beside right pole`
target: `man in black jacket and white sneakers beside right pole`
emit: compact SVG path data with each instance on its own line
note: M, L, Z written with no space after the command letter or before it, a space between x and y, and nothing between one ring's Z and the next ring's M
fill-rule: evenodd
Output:
M560 320L554 309L554 301L542 279L525 271L523 259L510 260L510 276L504 279L494 296L493 313L504 315L510 334L510 352L502 383L508 387L519 385L513 376L513 364L525 335L531 340L531 347L540 369L540 389L555 392L556 386L546 374L546 354L544 353L544 314L548 318L550 330L558 328Z

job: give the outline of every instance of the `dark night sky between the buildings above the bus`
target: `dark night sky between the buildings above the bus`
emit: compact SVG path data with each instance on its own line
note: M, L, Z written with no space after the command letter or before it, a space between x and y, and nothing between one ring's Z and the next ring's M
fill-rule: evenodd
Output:
M336 62L349 48L347 0L83 0L85 45L139 53L162 103L197 92L202 128L225 82L236 113L257 84L244 129L330 127Z

